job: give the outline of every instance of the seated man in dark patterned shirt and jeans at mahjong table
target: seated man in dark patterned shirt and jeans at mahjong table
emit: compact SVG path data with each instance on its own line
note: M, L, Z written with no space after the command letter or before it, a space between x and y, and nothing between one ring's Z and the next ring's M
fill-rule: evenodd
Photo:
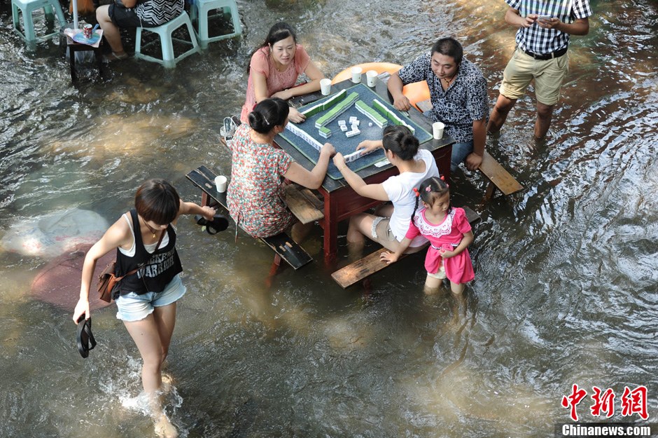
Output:
M407 111L411 105L402 94L402 87L420 81L427 81L430 89L430 118L445 123L445 131L455 139L451 169L464 160L468 169L477 169L482 163L489 116L482 72L463 58L463 48L456 39L442 38L434 44L431 53L420 55L388 79L393 106Z

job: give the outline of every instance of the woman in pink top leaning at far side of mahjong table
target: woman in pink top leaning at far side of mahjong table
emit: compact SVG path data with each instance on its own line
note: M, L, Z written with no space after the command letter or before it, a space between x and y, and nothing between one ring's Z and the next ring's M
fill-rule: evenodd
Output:
M284 22L276 23L269 29L265 42L251 55L247 71L247 95L240 114L243 123L248 123L249 113L261 100L268 97L288 100L313 93L320 89L320 80L324 78L306 50L297 44L293 28ZM311 81L295 87L297 77L302 73ZM291 107L289 119L291 122L301 123L305 117Z

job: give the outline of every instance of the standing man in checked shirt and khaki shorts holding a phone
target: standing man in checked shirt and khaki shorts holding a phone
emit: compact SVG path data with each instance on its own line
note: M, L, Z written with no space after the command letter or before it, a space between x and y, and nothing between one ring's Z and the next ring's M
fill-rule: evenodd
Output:
M505 0L505 22L518 27L517 48L503 72L500 95L493 107L489 132L498 132L514 103L535 80L535 137L545 137L560 88L569 69L570 35L589 32L589 0Z

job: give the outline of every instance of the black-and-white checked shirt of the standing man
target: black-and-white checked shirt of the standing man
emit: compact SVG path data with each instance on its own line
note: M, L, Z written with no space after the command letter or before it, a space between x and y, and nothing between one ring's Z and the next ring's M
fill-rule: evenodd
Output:
M521 17L529 14L550 15L567 24L591 15L589 0L505 0L505 3L519 11ZM535 22L531 27L519 28L516 40L521 50L545 55L566 48L569 45L569 34L556 29L542 29Z

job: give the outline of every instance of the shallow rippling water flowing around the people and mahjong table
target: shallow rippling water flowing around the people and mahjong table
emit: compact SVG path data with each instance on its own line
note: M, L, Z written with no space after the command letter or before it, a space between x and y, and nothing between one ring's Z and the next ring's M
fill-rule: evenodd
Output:
M70 85L57 40L28 51L0 5L0 236L71 209L111 222L149 177L200 196L184 175L228 174L219 145L238 114L251 50L275 20L298 29L327 76L352 64L404 63L440 36L462 41L491 103L512 53L500 1L238 1L244 37L212 43L176 69L130 60L105 82ZM167 412L184 437L552 437L572 385L645 385L658 409L658 4L592 1L573 38L549 139L535 144L533 98L517 103L488 150L526 187L482 201L459 172L454 202L482 215L462 299L424 296L421 257L340 289L321 262L284 268L272 253L179 226L188 294L166 373ZM130 48L130 47L129 47ZM344 227L339 263L346 262ZM150 437L140 359L113 307L93 313L99 345L76 351L71 309L30 285L50 258L0 252L0 437ZM71 294L77 294L76 287ZM136 407L137 406L137 407Z

